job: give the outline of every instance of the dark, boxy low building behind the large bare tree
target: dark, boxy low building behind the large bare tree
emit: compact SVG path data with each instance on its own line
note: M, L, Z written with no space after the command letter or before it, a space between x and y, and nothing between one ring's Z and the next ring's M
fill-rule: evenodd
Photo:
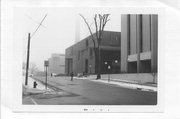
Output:
M94 34L95 35L95 34ZM78 73L94 74L95 54L91 36L77 42L66 49L65 72L69 75L72 71ZM120 32L104 31L100 45L101 73L120 72ZM111 69L108 70L108 66Z

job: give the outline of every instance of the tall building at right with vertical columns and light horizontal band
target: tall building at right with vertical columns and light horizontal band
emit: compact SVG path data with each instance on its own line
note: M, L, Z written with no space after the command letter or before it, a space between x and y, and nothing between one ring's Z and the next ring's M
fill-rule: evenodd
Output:
M158 15L121 15L121 73L156 73Z

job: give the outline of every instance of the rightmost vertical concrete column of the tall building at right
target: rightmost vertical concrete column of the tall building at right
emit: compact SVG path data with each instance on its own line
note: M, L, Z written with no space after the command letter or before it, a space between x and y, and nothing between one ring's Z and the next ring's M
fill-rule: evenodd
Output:
M150 15L151 23L151 72L157 72L158 15Z

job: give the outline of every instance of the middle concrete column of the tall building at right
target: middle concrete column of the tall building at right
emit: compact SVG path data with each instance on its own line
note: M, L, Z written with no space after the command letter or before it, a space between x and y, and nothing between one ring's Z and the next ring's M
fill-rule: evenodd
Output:
M136 49L137 49L137 73L141 72L141 42L142 42L142 15L136 15Z

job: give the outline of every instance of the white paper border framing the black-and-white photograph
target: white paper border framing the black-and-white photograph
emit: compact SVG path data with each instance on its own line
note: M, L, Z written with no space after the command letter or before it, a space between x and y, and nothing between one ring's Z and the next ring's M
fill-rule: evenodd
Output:
M53 8L53 6L14 6L16 7L39 7ZM57 6L56 6L57 7ZM14 9L13 8L13 9ZM69 7L70 9L84 9L83 7ZM163 112L164 110L164 24L165 10L157 7L89 7L96 12L108 12L119 10L120 14L158 14L158 94L157 105L23 105L22 104L22 41L13 41L13 78L12 81L12 109L14 112ZM13 14L12 14L13 15ZM11 17L12 18L12 17ZM11 22L13 22L11 20ZM10 24L13 25L13 24ZM11 26L12 27L12 26ZM13 28L13 27L12 27ZM15 29L13 29L15 30ZM14 36L13 30L10 34Z

